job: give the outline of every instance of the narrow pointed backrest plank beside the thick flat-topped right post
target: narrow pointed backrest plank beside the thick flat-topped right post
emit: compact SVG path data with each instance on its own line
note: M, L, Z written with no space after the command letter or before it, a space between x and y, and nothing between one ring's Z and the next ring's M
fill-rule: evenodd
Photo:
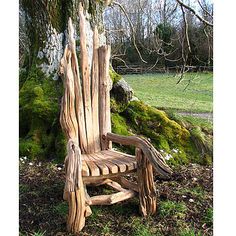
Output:
M98 30L97 26L94 27L93 31L93 60L92 60L92 121L93 121L93 139L94 139L94 151L98 152L101 150L100 144L100 132L99 132L99 62L98 62Z

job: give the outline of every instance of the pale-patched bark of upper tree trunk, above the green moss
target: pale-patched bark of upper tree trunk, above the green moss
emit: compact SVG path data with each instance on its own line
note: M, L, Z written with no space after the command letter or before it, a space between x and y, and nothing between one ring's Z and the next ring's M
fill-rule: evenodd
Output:
M58 79L57 71L67 43L69 17L75 24L76 40L79 40L79 2L85 8L87 35L92 35L92 29L97 25L99 45L105 43L102 21L105 3L86 0L20 0L21 32L25 32L24 37L29 43L29 50L24 50L21 44L21 52L28 54L22 64L28 69L36 64L46 75ZM89 62L92 60L92 43L92 40L87 42Z

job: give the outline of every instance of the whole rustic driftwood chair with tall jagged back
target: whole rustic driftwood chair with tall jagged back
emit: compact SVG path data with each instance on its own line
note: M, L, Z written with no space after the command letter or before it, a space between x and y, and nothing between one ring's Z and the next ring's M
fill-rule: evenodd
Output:
M85 225L91 205L110 205L135 195L140 211L146 216L156 212L153 168L164 177L171 173L160 153L147 140L111 133L110 121L110 47L99 47L96 27L93 33L93 59L89 70L86 47L85 16L80 5L80 69L72 21L68 22L68 45L61 59L64 82L60 123L66 134L66 183L64 199L69 204L68 231L78 233ZM136 156L112 149L112 142L134 145ZM137 173L137 184L125 175ZM90 197L87 185L107 184L117 193Z

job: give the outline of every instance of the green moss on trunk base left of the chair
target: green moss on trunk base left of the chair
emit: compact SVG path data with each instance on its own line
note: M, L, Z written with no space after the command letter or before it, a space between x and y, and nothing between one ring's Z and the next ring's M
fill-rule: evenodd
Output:
M57 155L62 159L65 139L59 125L59 112L63 86L36 67L23 75L19 92L20 155L33 159Z

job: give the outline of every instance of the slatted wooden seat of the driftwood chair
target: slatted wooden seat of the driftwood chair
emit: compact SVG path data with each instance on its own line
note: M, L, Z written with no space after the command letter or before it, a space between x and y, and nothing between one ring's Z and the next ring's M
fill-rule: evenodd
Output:
M82 155L82 176L104 176L136 168L135 156L112 149Z

